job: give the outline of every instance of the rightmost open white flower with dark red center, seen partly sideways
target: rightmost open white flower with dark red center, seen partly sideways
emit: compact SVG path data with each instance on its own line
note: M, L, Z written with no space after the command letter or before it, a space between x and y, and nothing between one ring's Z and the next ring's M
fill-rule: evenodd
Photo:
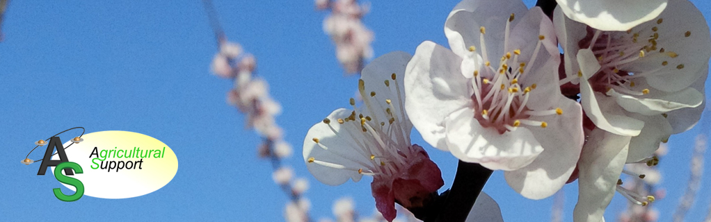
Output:
M628 162L691 128L702 111L709 28L690 2L668 4L658 18L626 32L587 29L555 11L567 73L561 83L580 84L583 110L595 126L635 136Z

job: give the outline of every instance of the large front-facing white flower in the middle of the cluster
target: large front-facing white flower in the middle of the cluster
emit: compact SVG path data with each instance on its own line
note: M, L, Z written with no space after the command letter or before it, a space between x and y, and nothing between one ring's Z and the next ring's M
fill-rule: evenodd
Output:
M551 21L521 1L461 1L444 33L451 50L424 42L407 65L405 109L417 131L460 160L506 170L523 196L555 194L583 132L580 106L560 94Z

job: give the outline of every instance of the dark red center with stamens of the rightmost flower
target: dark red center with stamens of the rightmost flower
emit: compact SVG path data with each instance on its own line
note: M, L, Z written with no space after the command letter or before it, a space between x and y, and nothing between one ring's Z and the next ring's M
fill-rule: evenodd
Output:
M661 23L663 19L658 18L656 25ZM626 32L596 30L592 38L581 40L580 45L590 47L601 65L600 70L589 79L593 90L605 93L609 89L614 89L625 94L641 96L648 94L649 89L633 89L635 79L653 74L667 65L675 65L678 70L683 69L683 63L674 61L678 54L658 44L660 29L653 23L646 23ZM592 33L592 30L589 29L588 32ZM684 35L689 37L691 32L687 31ZM594 44L587 45L589 43ZM642 58L661 62L658 66L648 67L643 72L632 70L633 62ZM672 64L675 62L679 63Z

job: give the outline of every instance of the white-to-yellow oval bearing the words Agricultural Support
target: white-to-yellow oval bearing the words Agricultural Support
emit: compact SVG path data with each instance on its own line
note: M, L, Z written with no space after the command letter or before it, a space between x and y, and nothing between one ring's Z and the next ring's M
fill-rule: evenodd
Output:
M84 184L84 195L124 199L155 192L178 172L178 157L156 138L128 131L101 131L82 136L80 143L61 138L70 162L82 174L70 175ZM59 160L55 155L52 160ZM54 168L48 170L54 173ZM75 187L63 184L76 191Z

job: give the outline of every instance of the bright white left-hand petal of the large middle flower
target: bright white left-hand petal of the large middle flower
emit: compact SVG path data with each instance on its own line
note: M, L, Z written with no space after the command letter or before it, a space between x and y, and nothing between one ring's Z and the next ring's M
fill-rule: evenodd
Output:
M444 118L472 106L471 81L461 76L461 58L450 50L425 41L405 70L405 110L422 138L447 150Z

